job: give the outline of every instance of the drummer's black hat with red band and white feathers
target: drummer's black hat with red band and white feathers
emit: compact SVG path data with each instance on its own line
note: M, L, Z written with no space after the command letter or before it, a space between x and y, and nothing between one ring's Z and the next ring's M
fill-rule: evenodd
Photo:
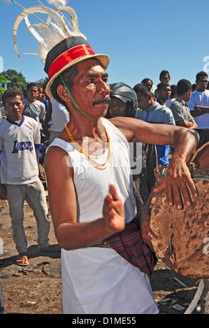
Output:
M41 3L39 0L38 2ZM48 3L55 4L57 8L53 10L47 6L43 6L42 3L41 6L24 8L15 20L13 41L17 55L20 57L17 51L16 36L17 28L24 19L27 24L28 33L31 32L39 43L38 52L26 52L25 54L35 54L45 64L44 70L50 78L46 87L46 93L50 98L53 98L50 88L55 78L64 70L92 57L99 59L101 66L106 69L110 59L106 54L94 53L92 47L87 43L86 37L78 29L78 17L75 11L73 8L63 6L63 3L66 3L66 1L48 0ZM62 6L60 6L61 3ZM34 13L45 13L48 15L48 19L44 22ZM66 22L66 17L64 17L63 13L69 14L71 18L70 22ZM28 19L29 14L38 18L41 23L30 24ZM52 19L55 22L52 22Z

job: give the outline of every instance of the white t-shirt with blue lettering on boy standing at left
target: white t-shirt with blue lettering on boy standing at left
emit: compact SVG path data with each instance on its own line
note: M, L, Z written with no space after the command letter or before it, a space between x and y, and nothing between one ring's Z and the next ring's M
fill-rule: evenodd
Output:
M0 122L1 184L31 184L38 180L36 149L40 147L38 123L22 116L17 123Z

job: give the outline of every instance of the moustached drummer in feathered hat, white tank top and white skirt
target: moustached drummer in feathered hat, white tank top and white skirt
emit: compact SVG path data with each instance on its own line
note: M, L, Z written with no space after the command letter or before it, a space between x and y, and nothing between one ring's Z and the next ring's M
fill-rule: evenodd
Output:
M58 19L57 11L40 8L59 26L63 24L66 33L66 24L62 17ZM63 10L69 11L76 28L77 16L72 8ZM28 15L27 10L24 15ZM158 313L149 279L154 255L134 221L136 203L128 142L175 144L166 176L156 192L166 184L168 204L175 203L180 209L180 191L187 205L191 204L186 185L197 196L187 167L196 151L197 134L187 128L148 124L131 117L103 118L110 103L106 73L109 57L95 54L84 37L73 33L46 53L45 72L50 78L46 93L70 113L69 123L45 156L50 210L62 247L63 311ZM127 248L121 242L124 232L130 237ZM148 239L145 225L141 225L141 232ZM129 250L133 250L133 234L137 251L134 248L132 257Z

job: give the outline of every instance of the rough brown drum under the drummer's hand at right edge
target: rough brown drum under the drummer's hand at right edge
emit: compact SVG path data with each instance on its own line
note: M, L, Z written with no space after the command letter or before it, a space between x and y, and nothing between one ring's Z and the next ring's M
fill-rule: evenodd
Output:
M182 276L209 278L209 181L194 180L199 197L177 210L165 193L154 196L150 216L152 246L157 256Z

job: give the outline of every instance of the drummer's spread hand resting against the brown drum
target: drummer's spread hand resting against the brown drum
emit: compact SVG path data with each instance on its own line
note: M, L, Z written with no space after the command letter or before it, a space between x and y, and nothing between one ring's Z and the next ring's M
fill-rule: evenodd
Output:
M175 204L177 209L182 209L183 200L187 206L192 204L189 189L194 197L198 196L187 164L180 158L172 157L166 174L159 180L159 184L154 188L154 193L161 193L165 190L168 205Z

